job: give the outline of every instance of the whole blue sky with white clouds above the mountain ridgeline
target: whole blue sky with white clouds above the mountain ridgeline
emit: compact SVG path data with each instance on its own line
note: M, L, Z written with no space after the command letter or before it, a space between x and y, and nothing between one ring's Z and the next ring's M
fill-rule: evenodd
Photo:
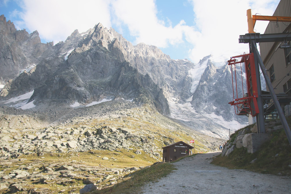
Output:
M273 15L279 0L0 0L0 15L18 30L37 30L42 42L65 39L101 22L133 45L159 47L173 59L197 63L212 54L219 61L248 51L239 44L247 33L246 10ZM268 22L257 22L264 33ZM279 24L280 25L280 24Z

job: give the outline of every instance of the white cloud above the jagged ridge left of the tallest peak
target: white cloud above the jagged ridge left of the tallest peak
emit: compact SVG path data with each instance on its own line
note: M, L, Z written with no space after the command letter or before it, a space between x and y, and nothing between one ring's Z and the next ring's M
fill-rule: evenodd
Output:
M101 22L110 27L109 1L24 0L22 19L29 31L38 30L40 37L58 43L75 30L93 28Z

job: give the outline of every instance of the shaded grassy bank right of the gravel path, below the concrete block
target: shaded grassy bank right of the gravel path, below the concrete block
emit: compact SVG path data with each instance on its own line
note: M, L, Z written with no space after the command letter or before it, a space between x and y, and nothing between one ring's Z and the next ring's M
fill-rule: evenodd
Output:
M290 123L290 119L288 123ZM234 141L240 130L230 136L230 142ZM240 149L235 148L227 157L219 155L214 158L212 164L231 169L246 169L264 174L290 176L291 168L289 165L291 165L291 146L289 145L285 131L281 129L273 133L272 136L273 138L270 141L264 143L261 148L253 154L247 153L247 149L244 147ZM250 163L254 159L256 159L256 161Z

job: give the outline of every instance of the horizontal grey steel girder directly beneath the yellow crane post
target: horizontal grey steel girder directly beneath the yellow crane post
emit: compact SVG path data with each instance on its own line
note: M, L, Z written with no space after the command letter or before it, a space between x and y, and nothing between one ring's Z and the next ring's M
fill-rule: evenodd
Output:
M260 33L247 33L245 35L239 35L239 43L250 43L254 40L258 42L281 42L291 41L291 33L279 33L279 34L260 34Z

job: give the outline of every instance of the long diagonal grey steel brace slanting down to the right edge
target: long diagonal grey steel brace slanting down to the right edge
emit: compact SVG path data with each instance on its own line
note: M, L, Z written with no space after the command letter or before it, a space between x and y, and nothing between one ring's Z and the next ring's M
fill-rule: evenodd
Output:
M277 113L279 115L279 118L280 118L280 120L282 122L282 125L283 125L283 128L285 130L287 139L289 141L289 144L291 145L291 131L290 131L289 125L287 123L287 120L285 118L283 110L282 110L282 108L281 108L281 106L279 104L278 98L277 98L277 96L275 94L275 91L274 91L272 83L271 83L271 81L269 79L269 76L267 75L267 71L265 69L265 65L263 63L263 60L262 60L260 54L259 54L259 51L257 49L257 45L256 45L256 41L255 40L252 40L252 45L251 46L252 46L252 51L254 53L254 56L257 58L257 61L258 61L259 65L260 65L260 68L262 70L262 74L264 75L267 87L269 88L270 94L272 96L272 99L273 99L274 105L276 107Z

